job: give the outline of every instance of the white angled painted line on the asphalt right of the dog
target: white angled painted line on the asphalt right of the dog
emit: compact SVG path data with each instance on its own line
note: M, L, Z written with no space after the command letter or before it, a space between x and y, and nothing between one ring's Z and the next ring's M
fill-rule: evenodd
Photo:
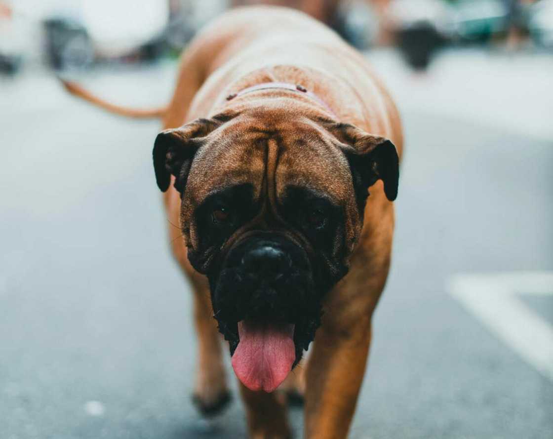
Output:
M553 271L459 274L447 287L489 330L553 381L553 327L517 297L553 295Z

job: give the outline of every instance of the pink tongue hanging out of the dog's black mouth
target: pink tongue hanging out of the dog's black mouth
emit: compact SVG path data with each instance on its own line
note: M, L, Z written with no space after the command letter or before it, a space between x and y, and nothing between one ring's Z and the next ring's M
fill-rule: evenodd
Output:
M250 390L272 392L288 376L296 359L294 325L238 322L240 342L232 368Z

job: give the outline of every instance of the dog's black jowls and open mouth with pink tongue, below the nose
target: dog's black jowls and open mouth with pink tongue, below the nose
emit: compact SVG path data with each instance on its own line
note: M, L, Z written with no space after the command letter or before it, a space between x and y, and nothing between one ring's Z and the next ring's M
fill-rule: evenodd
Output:
M321 295L304 275L284 275L279 288L249 290L240 271L222 272L213 289L218 329L244 386L275 390L300 362L321 323ZM227 282L239 278L241 283ZM309 281L308 281L309 280Z

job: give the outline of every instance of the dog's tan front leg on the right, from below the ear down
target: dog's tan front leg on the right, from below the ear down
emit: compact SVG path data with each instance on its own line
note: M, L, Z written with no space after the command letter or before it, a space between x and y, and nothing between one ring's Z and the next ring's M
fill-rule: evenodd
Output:
M371 196L367 210L375 212L383 192ZM305 439L345 439L357 404L371 344L371 319L390 266L393 208L367 217L349 273L327 296L327 312L309 356Z

